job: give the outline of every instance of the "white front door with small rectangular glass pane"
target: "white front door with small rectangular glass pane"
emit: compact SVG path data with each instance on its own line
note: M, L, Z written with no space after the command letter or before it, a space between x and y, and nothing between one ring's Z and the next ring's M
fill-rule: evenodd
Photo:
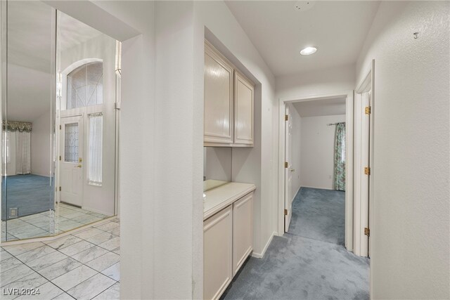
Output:
M60 200L83 204L83 117L60 121Z

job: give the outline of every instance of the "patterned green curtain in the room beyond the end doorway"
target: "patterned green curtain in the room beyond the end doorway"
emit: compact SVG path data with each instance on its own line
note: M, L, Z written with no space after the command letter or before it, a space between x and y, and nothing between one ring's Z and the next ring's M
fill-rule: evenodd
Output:
M336 124L333 188L345 190L345 122Z

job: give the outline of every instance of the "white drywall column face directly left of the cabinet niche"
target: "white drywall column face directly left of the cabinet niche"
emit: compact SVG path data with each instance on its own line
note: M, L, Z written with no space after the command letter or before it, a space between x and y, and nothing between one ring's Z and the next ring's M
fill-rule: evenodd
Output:
M203 298L203 46L193 6L155 3L157 299Z

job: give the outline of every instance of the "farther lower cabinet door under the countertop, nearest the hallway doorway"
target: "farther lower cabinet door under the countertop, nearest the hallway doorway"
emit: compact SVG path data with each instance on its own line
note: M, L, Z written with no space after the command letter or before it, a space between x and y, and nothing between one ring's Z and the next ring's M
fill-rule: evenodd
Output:
M233 275L253 249L253 193L233 204Z

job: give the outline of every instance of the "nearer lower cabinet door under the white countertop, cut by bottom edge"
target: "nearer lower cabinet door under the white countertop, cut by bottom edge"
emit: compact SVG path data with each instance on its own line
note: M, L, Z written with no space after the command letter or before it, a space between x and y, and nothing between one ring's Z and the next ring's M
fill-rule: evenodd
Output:
M233 278L231 205L203 222L203 299L219 299Z

